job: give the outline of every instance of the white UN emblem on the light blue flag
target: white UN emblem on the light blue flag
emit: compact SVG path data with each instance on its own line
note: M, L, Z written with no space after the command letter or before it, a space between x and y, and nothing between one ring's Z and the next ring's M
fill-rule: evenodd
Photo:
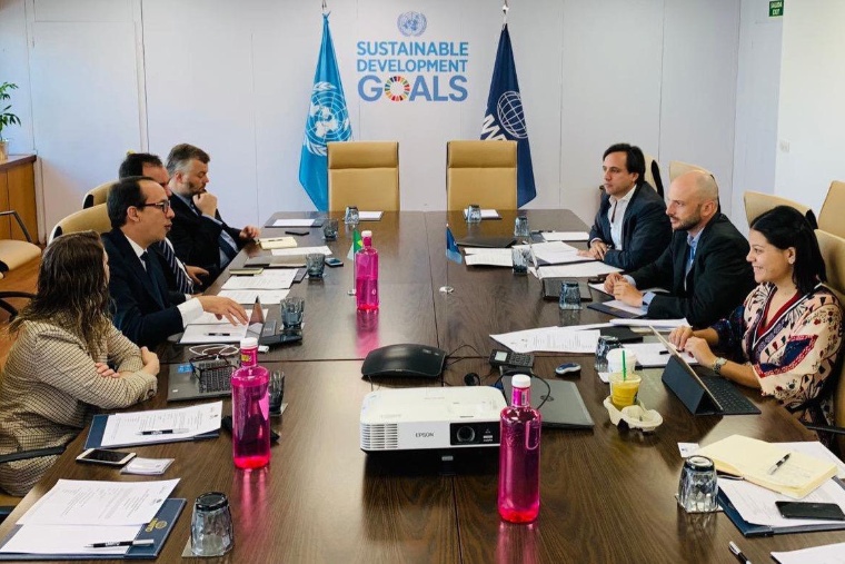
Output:
M330 82L316 82L305 125L304 145L308 152L325 157L327 142L346 141L351 132L342 92Z

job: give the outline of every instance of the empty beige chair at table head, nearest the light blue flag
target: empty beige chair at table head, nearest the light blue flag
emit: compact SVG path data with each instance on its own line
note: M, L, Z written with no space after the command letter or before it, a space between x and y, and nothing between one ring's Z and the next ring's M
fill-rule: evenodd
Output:
M334 141L326 144L329 211L347 206L374 211L399 210L399 144Z

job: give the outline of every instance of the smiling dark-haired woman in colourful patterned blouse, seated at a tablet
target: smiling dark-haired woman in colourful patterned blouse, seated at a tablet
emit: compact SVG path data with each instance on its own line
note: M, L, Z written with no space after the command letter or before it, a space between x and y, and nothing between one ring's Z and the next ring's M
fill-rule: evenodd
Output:
M680 327L669 340L716 374L774 396L803 422L832 425L825 382L842 344L842 308L822 284L825 265L813 228L799 211L778 206L752 222L748 241L759 286L729 318L702 330Z

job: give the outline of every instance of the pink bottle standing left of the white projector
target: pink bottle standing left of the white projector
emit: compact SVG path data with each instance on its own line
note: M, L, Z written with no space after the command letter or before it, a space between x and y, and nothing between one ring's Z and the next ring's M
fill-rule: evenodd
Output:
M242 345L231 375L231 453L238 468L262 468L270 463L270 374Z

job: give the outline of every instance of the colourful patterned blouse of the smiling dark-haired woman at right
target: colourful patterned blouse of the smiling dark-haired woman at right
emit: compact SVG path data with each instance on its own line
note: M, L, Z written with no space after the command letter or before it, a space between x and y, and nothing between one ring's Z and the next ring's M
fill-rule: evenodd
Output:
M713 326L718 348L750 364L764 396L774 396L805 423L833 425L832 394L807 402L819 395L835 369L843 333L839 301L819 284L758 332L775 290L771 283L760 284L730 317Z

